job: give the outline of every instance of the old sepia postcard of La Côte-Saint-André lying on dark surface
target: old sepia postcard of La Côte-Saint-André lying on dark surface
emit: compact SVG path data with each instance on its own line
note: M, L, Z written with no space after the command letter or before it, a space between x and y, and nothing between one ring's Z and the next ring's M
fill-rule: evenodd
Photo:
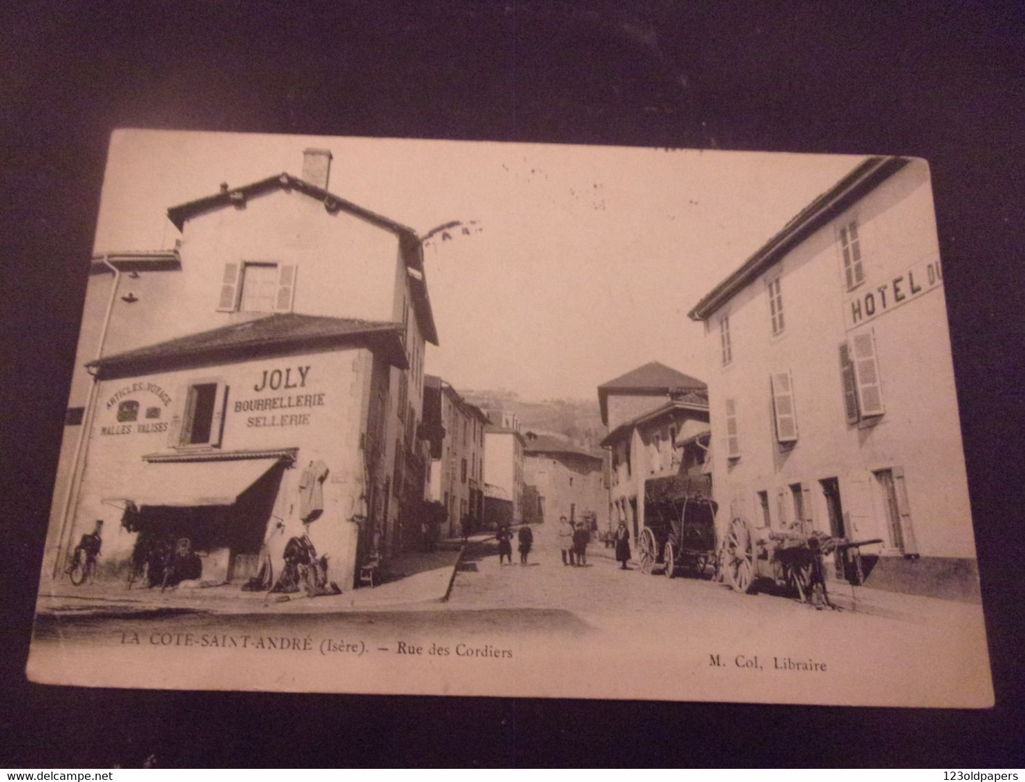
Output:
M993 702L929 166L122 130L28 674Z

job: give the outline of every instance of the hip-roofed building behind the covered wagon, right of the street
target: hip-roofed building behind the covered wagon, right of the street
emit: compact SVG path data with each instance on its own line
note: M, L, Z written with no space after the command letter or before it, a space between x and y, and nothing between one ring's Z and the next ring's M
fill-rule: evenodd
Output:
M700 471L708 436L705 384L651 362L598 387L609 434L608 523L626 522L632 539L644 528L645 483Z

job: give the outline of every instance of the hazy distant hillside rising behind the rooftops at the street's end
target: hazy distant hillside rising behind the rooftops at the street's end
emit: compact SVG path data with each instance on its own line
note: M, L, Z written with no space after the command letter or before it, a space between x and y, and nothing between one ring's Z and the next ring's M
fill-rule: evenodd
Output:
M591 400L554 399L542 402L524 402L516 392L505 388L459 389L467 402L483 408L509 410L520 418L524 431L560 435L585 448L599 448L608 434L602 423L598 396Z

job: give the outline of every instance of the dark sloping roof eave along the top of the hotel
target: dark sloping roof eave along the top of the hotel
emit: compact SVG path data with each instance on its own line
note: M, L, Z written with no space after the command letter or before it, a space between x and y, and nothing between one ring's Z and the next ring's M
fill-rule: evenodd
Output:
M786 253L859 199L875 190L910 161L909 158L866 158L832 188L802 209L783 229L741 264L740 269L711 289L688 317L707 320L738 291L757 279Z

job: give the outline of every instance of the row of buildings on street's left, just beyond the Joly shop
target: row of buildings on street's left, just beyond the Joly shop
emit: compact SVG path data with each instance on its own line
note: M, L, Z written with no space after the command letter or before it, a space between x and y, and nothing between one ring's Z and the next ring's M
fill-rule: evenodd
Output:
M423 423L430 442L429 498L445 505L448 520L442 534L461 534L484 519L484 427L487 416L466 402L449 383L424 376Z

